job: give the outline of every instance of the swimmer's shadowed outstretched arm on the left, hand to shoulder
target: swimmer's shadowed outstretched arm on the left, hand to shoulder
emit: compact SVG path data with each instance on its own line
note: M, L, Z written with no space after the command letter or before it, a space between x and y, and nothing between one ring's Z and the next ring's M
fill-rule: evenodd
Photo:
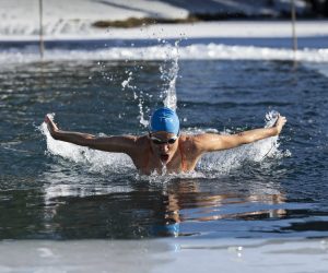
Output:
M73 143L80 146L87 146L95 150L115 153L131 154L136 150L137 138L132 135L102 136L98 138L89 133L71 132L60 130L48 117L45 117L49 133L55 140Z

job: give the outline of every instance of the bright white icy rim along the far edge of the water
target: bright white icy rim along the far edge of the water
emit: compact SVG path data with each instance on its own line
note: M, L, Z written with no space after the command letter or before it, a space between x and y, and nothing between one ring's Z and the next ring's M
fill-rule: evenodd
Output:
M98 50L63 50L54 49L45 52L45 61L83 61L83 60L167 60L167 46L150 47L110 47ZM267 48L254 46L226 46L218 44L190 45L180 47L179 60L282 60L328 62L328 49L291 49ZM39 61L35 49L17 51L9 49L0 51L0 66L8 63L28 63Z

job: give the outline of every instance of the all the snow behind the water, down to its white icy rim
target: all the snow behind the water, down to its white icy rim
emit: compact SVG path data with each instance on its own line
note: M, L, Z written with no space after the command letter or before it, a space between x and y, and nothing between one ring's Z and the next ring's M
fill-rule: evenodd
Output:
M169 51L164 47L167 41L173 45L179 40L179 59L327 63L327 20L297 21L297 52L291 49L292 24L286 20L152 24L131 28L93 26L97 21L131 16L185 19L192 13L241 10L258 15L290 9L289 0L273 2L274 5L268 7L267 0L43 0L45 60L163 59ZM307 9L304 1L295 2L298 13ZM38 60L38 4L39 0L0 0L0 61Z

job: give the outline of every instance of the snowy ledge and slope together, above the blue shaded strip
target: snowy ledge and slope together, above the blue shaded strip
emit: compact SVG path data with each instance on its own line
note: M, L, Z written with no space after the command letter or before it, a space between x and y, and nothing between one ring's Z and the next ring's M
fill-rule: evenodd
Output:
M186 19L191 13L234 13L248 15L288 12L290 1L241 0L43 0L45 39L152 39L152 38L274 38L290 37L288 21L216 21L194 24L156 24L132 28L99 28L97 21L129 17ZM266 5L267 4L267 5ZM297 0L298 12L306 9ZM0 0L0 40L37 40L39 0ZM328 21L298 22L298 37L328 36Z

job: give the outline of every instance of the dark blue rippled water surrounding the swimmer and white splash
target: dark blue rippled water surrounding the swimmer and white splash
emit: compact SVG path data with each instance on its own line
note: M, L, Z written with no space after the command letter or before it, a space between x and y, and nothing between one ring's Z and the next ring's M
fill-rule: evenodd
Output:
M139 98L147 114L161 105L167 87L161 66L0 67L0 239L328 236L328 78L303 64L179 61L184 128L262 127L276 109L289 120L281 156L225 174L148 179L130 166L91 167L46 152L38 127L47 112L62 129L143 133ZM121 85L129 72L137 99Z

